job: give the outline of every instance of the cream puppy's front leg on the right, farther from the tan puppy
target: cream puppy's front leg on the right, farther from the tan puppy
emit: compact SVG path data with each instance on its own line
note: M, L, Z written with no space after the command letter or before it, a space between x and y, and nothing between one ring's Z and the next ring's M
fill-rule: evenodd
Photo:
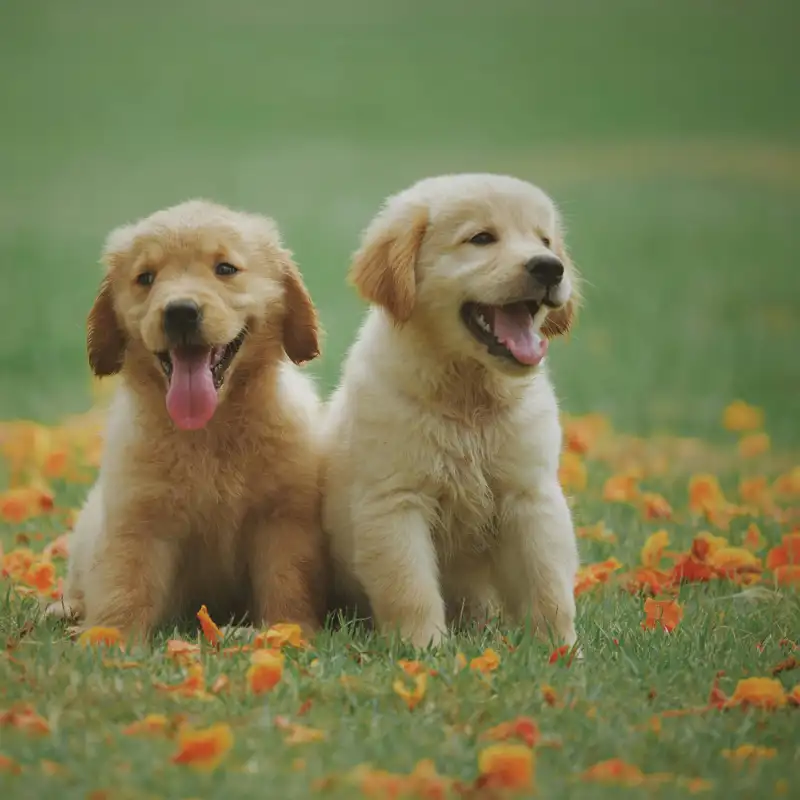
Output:
M564 493L556 481L501 503L495 585L517 621L530 616L540 634L575 643L578 548Z

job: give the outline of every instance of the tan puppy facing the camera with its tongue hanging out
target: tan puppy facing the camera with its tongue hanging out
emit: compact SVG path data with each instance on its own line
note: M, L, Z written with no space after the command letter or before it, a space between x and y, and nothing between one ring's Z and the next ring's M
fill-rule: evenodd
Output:
M294 364L317 315L275 224L190 201L115 230L104 260L89 363L120 382L51 611L140 635L203 603L316 628L320 410Z

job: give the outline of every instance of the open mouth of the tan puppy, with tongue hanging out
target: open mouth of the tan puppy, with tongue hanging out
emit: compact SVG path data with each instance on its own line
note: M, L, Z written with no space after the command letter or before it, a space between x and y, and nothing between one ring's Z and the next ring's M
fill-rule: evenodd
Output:
M225 375L244 342L247 330L226 345L186 345L156 353L169 381L167 411L184 430L204 427L217 407Z

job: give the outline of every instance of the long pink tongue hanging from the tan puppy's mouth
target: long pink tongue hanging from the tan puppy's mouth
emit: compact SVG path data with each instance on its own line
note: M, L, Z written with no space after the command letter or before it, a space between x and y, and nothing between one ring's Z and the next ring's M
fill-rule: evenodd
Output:
M217 390L211 374L211 350L171 350L172 377L167 411L183 430L202 428L214 416Z

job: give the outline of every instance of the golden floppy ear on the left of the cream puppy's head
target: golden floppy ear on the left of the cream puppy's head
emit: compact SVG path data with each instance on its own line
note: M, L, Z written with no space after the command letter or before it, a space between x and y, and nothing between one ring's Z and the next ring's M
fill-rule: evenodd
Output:
M384 210L367 228L350 268L350 282L359 294L397 322L408 321L414 310L414 268L427 227L426 208Z

